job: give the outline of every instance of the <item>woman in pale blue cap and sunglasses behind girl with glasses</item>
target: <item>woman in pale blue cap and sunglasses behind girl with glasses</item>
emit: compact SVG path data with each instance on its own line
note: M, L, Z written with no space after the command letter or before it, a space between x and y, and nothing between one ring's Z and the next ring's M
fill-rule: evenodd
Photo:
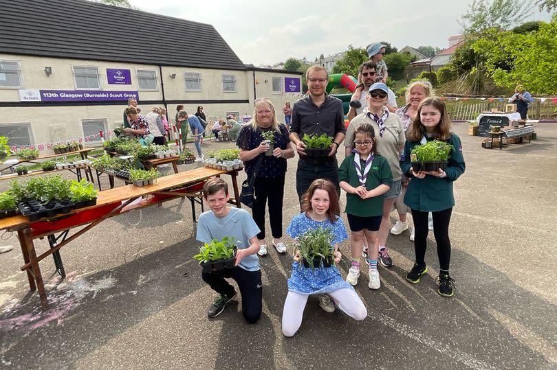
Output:
M384 267L393 266L393 260L389 256L386 248L386 239L391 228L391 208L395 203L395 199L400 193L402 187L402 172L400 171L400 154L404 148L404 127L402 120L395 114L391 114L385 107L389 92L386 84L375 82L369 87L367 94L367 108L364 112L351 120L345 140L345 154L347 157L351 155L354 142L354 130L358 125L368 123L375 130L375 139L377 139L377 149L383 157L389 162L391 172L393 174L393 185L384 195L383 214L381 226L379 228L379 260ZM368 244L364 238L364 256L368 257ZM377 264L377 260L369 260L368 264Z

